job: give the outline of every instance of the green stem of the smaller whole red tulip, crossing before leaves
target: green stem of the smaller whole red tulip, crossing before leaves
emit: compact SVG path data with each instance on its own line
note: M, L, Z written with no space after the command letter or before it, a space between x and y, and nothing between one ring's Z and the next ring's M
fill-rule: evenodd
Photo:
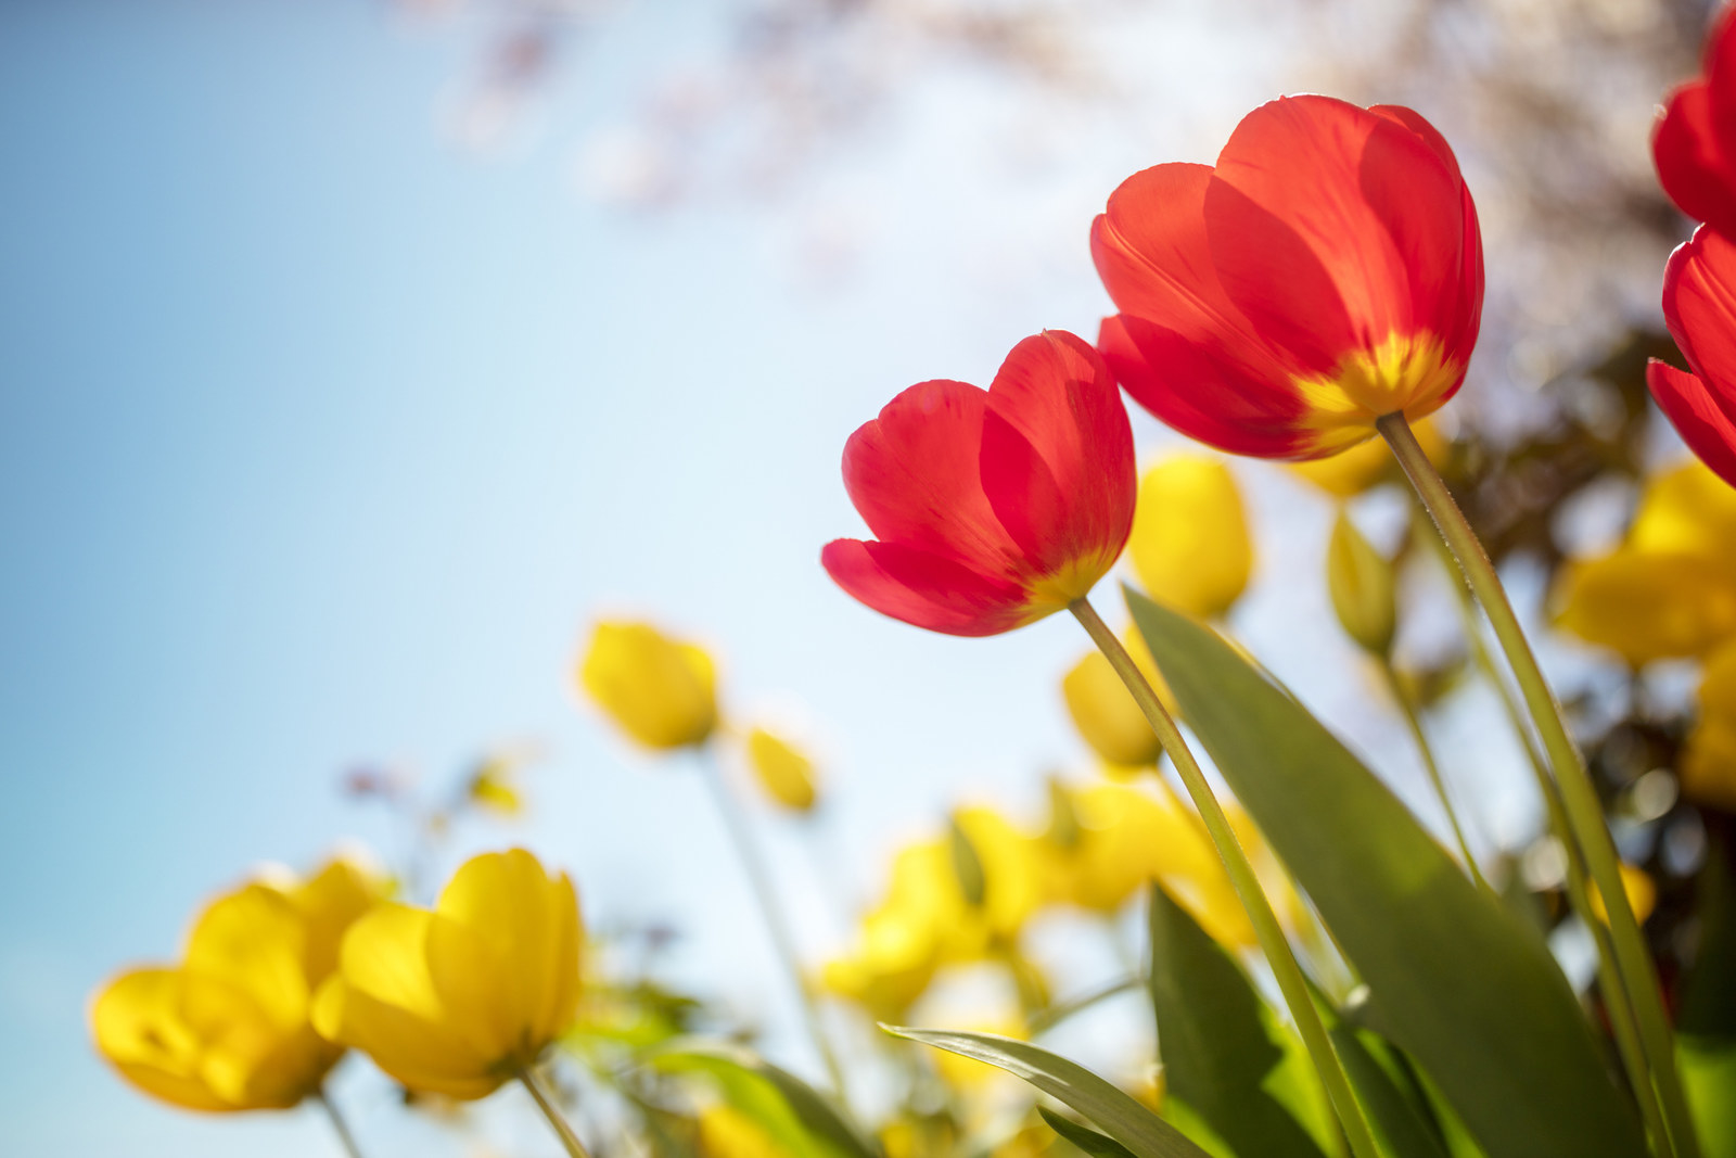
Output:
M1236 896L1241 898L1241 906L1248 911L1248 920L1253 924L1253 932L1259 938L1260 950L1266 953L1266 962L1271 965L1272 977L1278 981L1278 988L1285 995L1285 1003L1290 1007L1290 1017L1295 1021L1297 1031L1302 1035L1302 1043L1314 1061L1314 1069L1319 1073L1319 1080L1325 1083L1326 1094L1338 1111L1338 1122L1351 1142L1351 1153L1356 1158L1377 1158L1380 1151L1375 1146L1373 1132L1363 1116L1363 1108L1358 1104L1356 1094L1351 1090L1351 1078L1345 1075L1344 1063L1332 1047L1332 1038L1319 1019L1319 1010L1314 1007L1307 977L1302 976L1302 967L1290 950L1283 925L1278 924L1278 913L1272 911L1272 903L1260 887L1260 878L1255 875L1241 842L1236 840L1236 832L1229 826L1224 806L1213 795L1205 771L1201 771L1187 741L1182 740L1175 720L1170 719L1158 694L1146 682L1139 665L1134 663L1127 648L1115 637L1109 625L1102 622L1097 609L1087 599L1069 604L1068 609L1073 611L1085 634L1090 635L1097 649L1109 660L1109 667L1127 684L1127 691L1132 693L1146 722L1151 724L1151 731L1156 733L1158 743L1163 745L1163 750L1175 764L1187 795L1193 797L1194 807L1200 811L1200 819L1205 823L1212 844L1217 845L1217 854L1229 873L1229 880L1236 887Z

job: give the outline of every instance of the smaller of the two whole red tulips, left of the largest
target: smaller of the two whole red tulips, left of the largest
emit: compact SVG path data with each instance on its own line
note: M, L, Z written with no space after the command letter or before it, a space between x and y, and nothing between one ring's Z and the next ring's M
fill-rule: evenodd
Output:
M1097 352L1064 330L1012 347L995 384L920 382L844 448L844 488L875 540L826 571L875 611L995 635L1064 609L1134 526L1134 432Z

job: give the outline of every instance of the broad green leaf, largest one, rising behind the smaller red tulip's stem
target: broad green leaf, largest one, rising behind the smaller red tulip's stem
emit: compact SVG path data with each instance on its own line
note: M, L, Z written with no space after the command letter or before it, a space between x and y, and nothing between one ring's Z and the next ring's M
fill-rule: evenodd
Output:
M1489 1158L1646 1153L1543 941L1479 892L1295 696L1205 625L1128 590L1182 715Z

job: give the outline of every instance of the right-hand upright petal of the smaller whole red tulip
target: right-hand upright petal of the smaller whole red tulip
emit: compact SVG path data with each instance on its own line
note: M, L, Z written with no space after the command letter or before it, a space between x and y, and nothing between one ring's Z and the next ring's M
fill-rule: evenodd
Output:
M1134 526L1134 431L1109 368L1049 330L1019 342L990 387L983 490L1043 573L1121 552Z

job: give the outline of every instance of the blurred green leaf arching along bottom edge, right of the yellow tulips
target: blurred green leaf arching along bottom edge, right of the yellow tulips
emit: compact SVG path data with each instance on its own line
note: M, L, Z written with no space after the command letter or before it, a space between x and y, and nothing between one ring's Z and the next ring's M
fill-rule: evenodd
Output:
M795 1075L733 1042L686 1038L646 1061L667 1073L703 1073L729 1106L752 1118L795 1158L880 1158L832 1102Z

